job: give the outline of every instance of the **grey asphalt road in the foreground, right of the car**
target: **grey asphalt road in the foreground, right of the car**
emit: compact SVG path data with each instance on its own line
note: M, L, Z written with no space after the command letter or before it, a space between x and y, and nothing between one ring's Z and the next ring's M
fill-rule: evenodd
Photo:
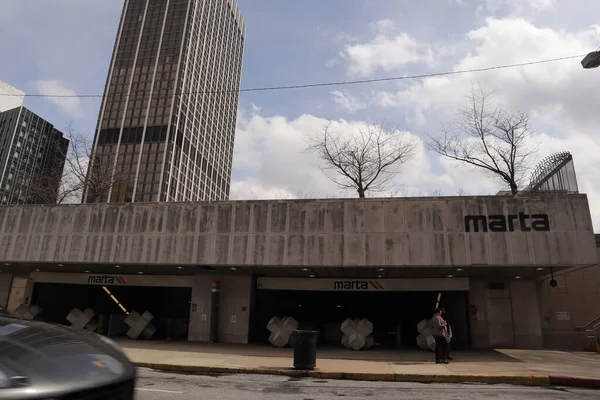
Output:
M298 379L265 375L203 376L139 370L137 400L321 399L599 399L600 391L505 385L425 385Z

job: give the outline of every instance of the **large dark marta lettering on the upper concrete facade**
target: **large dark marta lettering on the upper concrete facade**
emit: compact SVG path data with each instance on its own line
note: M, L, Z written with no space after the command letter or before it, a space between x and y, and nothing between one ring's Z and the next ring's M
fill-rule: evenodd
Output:
M465 232L550 231L547 214L465 215Z

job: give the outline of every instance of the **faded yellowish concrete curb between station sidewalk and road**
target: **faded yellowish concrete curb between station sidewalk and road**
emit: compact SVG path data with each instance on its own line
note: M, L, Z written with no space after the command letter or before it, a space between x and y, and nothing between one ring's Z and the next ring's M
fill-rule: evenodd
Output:
M488 385L508 384L516 386L576 386L578 381L570 381L571 384L554 383L547 375L418 375L418 374L393 374L393 373L369 373L369 372L332 372L295 370L293 368L249 368L249 367L209 367L203 365L173 365L163 363L135 362L137 367L150 368L169 372L190 372L203 374L257 374L257 375L279 375L291 378L317 378L317 379L339 379L355 381L384 381L384 382L416 382L416 383L480 383ZM564 377L561 382L578 378ZM556 381L556 378L555 378ZM586 380L591 381L591 380ZM597 381L600 388L600 380ZM588 382L589 383L589 382ZM589 387L589 386L579 386Z

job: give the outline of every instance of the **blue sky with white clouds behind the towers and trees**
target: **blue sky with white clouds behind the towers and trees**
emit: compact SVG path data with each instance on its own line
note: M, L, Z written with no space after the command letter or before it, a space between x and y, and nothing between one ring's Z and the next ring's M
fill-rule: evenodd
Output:
M102 93L122 0L2 0L0 80L27 93ZM242 87L495 67L600 46L597 0L238 0L247 24ZM8 61L8 62L7 62ZM305 152L324 123L383 122L416 139L438 132L474 84L531 112L538 157L568 150L600 231L600 69L580 59L353 86L243 93L232 197L353 196ZM57 127L92 135L99 99L27 98ZM384 196L493 194L501 184L425 151Z

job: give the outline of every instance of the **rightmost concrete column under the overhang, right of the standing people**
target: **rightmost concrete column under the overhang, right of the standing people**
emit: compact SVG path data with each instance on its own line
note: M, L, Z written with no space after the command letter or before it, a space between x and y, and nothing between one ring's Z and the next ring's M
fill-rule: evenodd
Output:
M541 349L542 324L536 281L510 282L515 347Z

